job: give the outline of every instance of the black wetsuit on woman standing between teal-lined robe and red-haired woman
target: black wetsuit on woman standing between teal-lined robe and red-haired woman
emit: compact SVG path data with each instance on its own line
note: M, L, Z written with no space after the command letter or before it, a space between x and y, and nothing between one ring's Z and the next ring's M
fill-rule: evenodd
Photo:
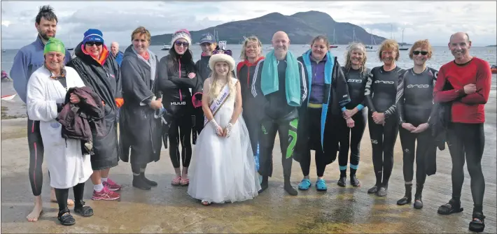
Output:
M367 108L365 108L365 98L364 92L367 82L367 76L371 72L368 68L364 73L360 70L347 70L342 66L342 71L345 75L345 80L349 87L349 96L351 102L345 105L347 110L352 110L353 108L358 108L356 115L352 116L354 126L349 128L346 125L345 119L339 119L341 124L339 125L339 154L338 154L338 165L341 173L345 175L347 168L347 161L349 158L349 147L351 150L350 154L350 168L351 175L356 173L359 165L360 159L360 140L363 138L364 130L367 123Z

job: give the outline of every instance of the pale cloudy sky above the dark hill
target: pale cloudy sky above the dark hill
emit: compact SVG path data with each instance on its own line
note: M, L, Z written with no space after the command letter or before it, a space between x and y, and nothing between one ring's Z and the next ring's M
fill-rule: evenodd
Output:
M34 18L44 4L55 9L56 36L67 47L76 46L90 28L102 30L106 44L118 41L125 47L138 26L158 35L273 12L293 15L309 10L328 13L337 22L356 24L385 38L391 37L393 25L393 37L399 42L405 29L407 43L428 39L432 45L444 46L451 34L465 31L473 46L497 44L496 1L1 1L3 49L34 41Z

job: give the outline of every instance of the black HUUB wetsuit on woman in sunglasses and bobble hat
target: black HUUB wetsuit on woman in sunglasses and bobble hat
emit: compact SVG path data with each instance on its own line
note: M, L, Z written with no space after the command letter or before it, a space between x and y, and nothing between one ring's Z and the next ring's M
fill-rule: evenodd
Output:
M197 77L188 78L189 73L195 73L193 61L177 60L174 71L169 68L168 54L162 57L158 65L158 78L160 80L160 90L164 94L162 104L172 117L169 129L163 131L162 141L165 143L169 137L169 156L174 168L180 167L179 144L181 143L181 163L183 167L190 166L192 159L192 145L190 134L193 125L193 103L190 89L196 89Z

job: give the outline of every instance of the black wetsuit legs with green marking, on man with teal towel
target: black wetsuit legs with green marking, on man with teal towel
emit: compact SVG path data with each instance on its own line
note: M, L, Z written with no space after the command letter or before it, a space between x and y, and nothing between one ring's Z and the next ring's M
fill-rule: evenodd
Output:
M290 179L292 173L292 156L297 142L297 122L291 121L276 122L272 119L261 121L261 131L259 131L260 142L260 167L259 174L263 177L272 175L272 150L276 132L279 135L279 147L281 148L281 164L283 166L283 177Z

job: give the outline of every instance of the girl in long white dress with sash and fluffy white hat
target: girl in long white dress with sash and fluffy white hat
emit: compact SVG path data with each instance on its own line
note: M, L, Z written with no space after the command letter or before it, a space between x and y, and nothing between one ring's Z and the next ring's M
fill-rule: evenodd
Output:
M193 150L188 194L202 205L252 199L260 184L248 131L241 114L240 84L232 77L228 54L209 59L213 71L204 82L205 126Z

